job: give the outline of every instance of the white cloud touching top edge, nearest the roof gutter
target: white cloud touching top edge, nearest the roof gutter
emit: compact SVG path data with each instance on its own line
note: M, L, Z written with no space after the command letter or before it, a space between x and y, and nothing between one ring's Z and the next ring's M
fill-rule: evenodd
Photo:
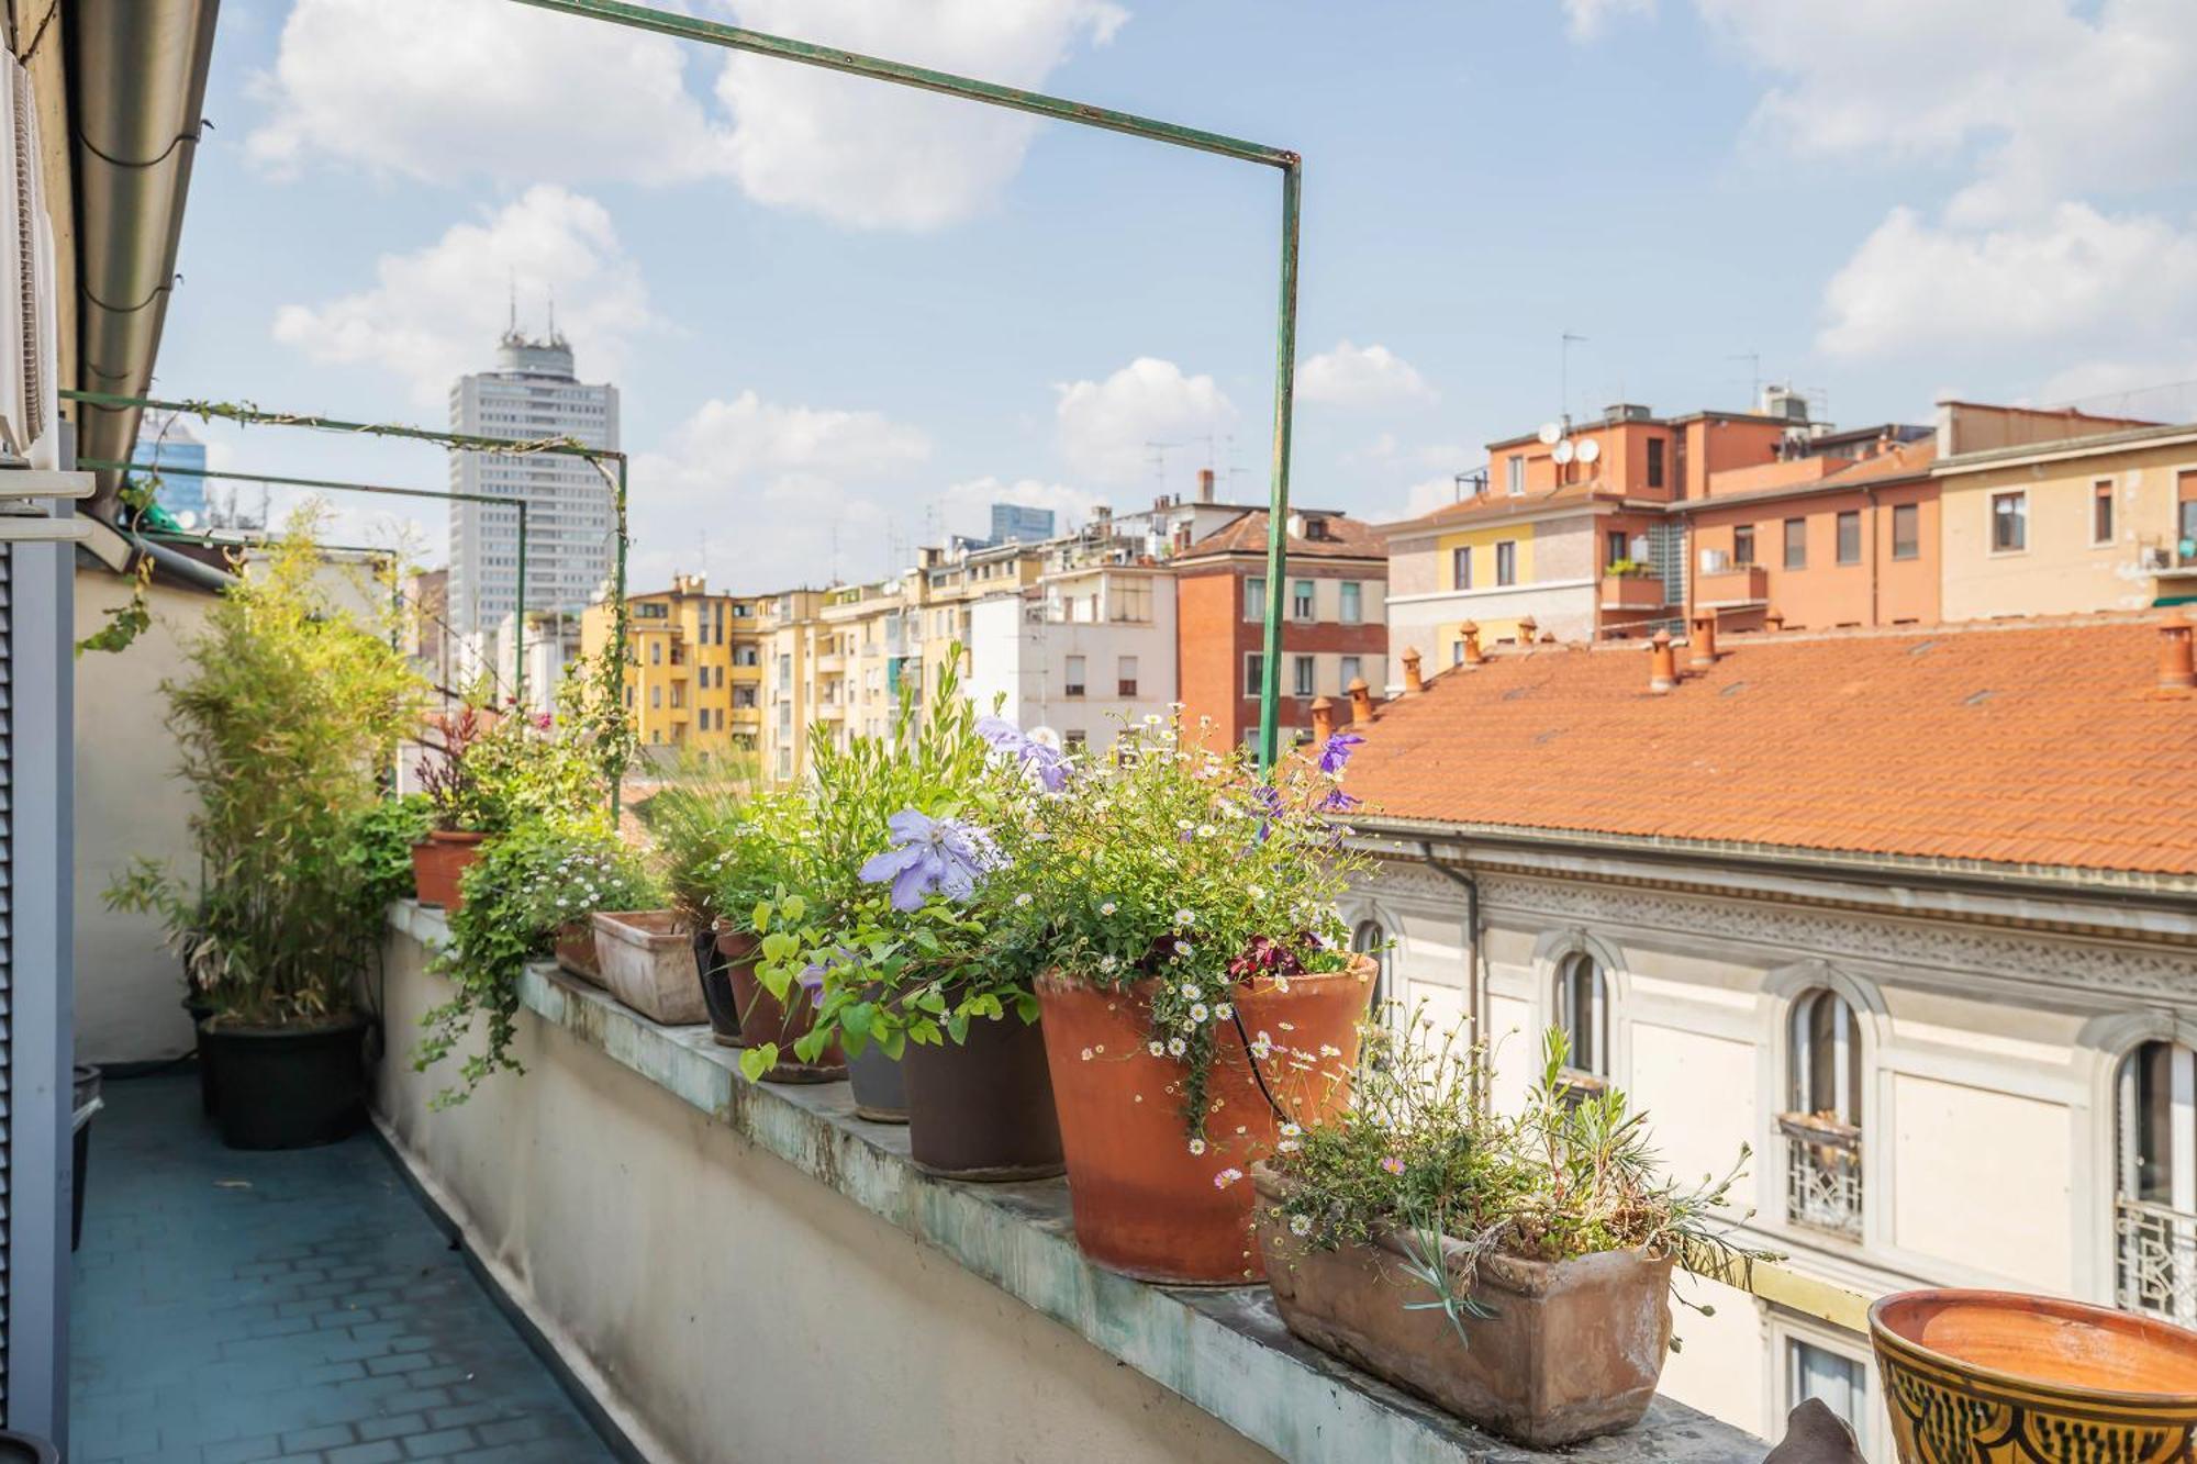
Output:
M677 42L510 0L297 0L246 154L455 182L677 182L729 167Z

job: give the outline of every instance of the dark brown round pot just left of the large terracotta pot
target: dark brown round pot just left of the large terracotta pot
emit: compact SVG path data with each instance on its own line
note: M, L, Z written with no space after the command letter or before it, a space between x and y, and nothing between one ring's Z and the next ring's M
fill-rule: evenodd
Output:
M925 1174L1000 1183L1066 1167L1041 1024L980 1018L960 1046L910 1042L901 1068L907 1150Z

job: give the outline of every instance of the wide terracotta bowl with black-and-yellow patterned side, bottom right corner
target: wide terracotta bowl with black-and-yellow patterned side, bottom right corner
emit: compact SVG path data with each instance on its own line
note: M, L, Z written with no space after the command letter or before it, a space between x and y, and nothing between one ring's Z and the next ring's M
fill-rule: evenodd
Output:
M2010 1290L1870 1308L1900 1464L2197 1457L2197 1332Z

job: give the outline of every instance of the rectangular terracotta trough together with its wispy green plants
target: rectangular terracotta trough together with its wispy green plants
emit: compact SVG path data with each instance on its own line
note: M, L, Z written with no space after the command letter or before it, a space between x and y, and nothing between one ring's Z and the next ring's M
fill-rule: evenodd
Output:
M1727 1224L1744 1147L1722 1183L1683 1189L1624 1093L1566 1082L1560 1031L1516 1119L1481 1103L1476 1051L1426 1031L1424 1016L1371 1031L1356 1103L1252 1169L1283 1321L1536 1449L1639 1422L1676 1345L1672 1264L1731 1275L1758 1257Z

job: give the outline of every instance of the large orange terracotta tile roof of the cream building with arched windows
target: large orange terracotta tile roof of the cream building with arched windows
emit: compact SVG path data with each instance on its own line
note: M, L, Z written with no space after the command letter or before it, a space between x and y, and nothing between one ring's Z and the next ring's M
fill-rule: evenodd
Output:
M1498 653L1386 703L1364 818L2197 875L2197 692L2157 618Z

